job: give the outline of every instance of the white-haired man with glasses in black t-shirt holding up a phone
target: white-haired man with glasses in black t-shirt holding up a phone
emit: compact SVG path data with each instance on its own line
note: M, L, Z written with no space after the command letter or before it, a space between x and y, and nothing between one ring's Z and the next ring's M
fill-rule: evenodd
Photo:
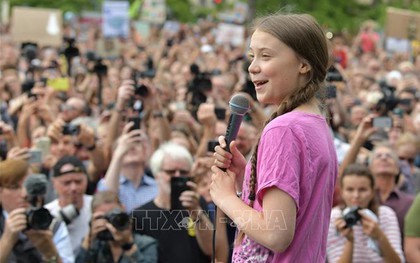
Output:
M186 148L165 143L150 160L158 184L158 195L151 202L135 209L135 230L157 239L159 262L209 262L212 254L213 225L207 216L207 205L190 177L193 158ZM173 178L185 178L185 191L171 189ZM172 195L171 195L171 192ZM178 192L178 191L177 191ZM177 200L171 201L171 196ZM172 204L179 201L180 209Z

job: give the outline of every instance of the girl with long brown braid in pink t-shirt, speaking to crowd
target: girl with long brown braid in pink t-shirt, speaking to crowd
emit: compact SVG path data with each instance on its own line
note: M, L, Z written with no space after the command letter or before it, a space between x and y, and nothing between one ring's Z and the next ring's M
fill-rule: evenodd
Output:
M223 136L216 147L210 193L239 229L232 262L325 262L337 159L316 97L329 61L323 30L309 15L264 17L249 56L258 101L277 110L248 164L235 141L231 153Z

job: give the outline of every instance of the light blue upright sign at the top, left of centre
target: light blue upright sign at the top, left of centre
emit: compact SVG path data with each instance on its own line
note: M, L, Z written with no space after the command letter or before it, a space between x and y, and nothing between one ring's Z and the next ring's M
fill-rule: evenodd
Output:
M128 1L105 1L102 6L102 33L104 37L127 38L130 31Z

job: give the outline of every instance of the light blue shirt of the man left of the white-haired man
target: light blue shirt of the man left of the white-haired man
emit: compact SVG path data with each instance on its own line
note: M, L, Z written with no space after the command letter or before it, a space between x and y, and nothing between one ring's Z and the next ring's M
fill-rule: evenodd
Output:
M98 191L108 190L108 188L105 186L104 178L98 182L97 189ZM143 175L140 185L136 187L129 179L123 175L120 175L120 187L118 196L121 203L127 209L127 213L131 213L133 209L148 203L153 198L155 198L157 194L158 187L155 179L152 177L146 174Z

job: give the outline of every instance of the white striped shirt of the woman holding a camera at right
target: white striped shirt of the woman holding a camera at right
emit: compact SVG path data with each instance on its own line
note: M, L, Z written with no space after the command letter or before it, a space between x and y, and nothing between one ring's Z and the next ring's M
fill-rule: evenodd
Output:
M337 262L340 259L344 245L347 242L347 239L337 232L334 224L337 218L341 216L341 209L338 207L333 208L331 211L331 221L327 241L327 258L329 263ZM401 262L404 262L398 220L395 212L391 208L387 206L379 207L379 226L388 238L388 241L394 248L395 252L400 257ZM353 236L354 263L384 262L381 255L368 245L370 237L363 233L363 228L360 222L353 226Z

